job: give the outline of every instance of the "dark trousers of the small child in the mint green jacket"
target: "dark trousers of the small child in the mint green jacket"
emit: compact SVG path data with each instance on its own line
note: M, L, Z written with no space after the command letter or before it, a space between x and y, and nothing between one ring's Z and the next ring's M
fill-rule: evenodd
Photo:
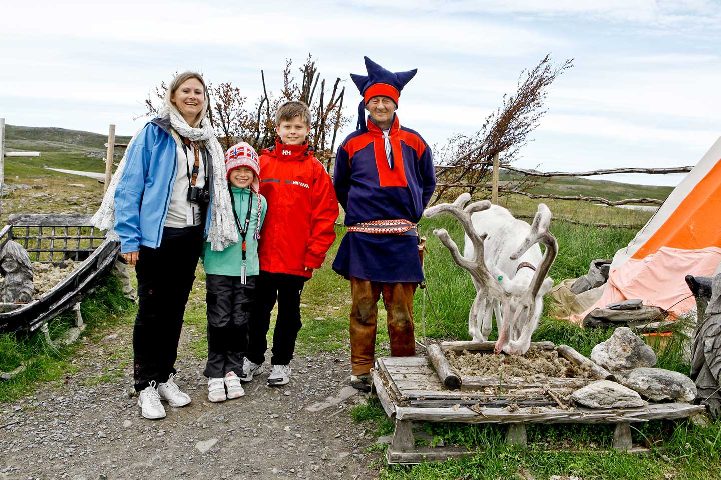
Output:
M230 372L243 375L255 281L256 276L242 284L239 276L205 275L208 361L203 375L209 379L221 379Z

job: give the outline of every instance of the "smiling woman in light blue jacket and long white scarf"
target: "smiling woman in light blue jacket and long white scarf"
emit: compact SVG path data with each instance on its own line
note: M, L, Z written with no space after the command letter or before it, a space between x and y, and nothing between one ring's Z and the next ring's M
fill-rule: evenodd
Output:
M209 119L198 73L174 78L159 118L131 140L95 225L120 241L136 267L138 314L133 328L133 380L143 417L165 417L161 400L183 407L174 383L185 304L203 240L213 250L236 243L224 155ZM113 235L114 234L114 235Z

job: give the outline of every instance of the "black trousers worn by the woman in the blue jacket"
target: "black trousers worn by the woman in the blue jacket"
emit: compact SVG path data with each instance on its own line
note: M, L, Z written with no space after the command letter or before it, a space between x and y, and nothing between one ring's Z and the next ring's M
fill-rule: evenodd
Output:
M163 230L159 248L141 246L136 263L138 314L133 327L136 391L175 374L185 304L203 247L203 227Z

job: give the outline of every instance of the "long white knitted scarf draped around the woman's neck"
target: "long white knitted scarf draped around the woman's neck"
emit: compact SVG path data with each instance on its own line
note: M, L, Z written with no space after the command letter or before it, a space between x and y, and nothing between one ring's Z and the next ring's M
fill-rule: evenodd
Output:
M191 128L180 114L169 107L164 107L159 116L169 117L170 126L178 132L181 137L185 137L192 142L203 140L205 142L205 149L208 150L208 153L211 155L213 166L213 178L211 178L213 182L213 202L211 203L210 212L211 225L208 228L208 242L211 243L211 250L221 252L230 245L238 243L238 230L234 223L230 194L225 176L225 155L223 150L221 150L221 145L218 143L218 140L216 140L216 135L213 133L210 120L206 117L200 124L202 128ZM138 130L138 133L139 132ZM102 199L102 204L91 219L94 227L106 231L106 237L115 242L120 240L113 229L113 227L115 227L115 189L118 187L120 178L123 176L128 151L131 149L133 142L135 142L138 133L128 142L128 148L125 149L123 160L120 160L120 165L118 165L118 169L112 176L110 186L107 187L105 197Z

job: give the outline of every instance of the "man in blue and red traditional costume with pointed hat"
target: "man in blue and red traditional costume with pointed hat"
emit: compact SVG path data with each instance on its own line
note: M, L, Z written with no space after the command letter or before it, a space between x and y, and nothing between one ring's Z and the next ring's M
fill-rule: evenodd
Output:
M424 280L416 224L435 190L435 173L428 144L401 127L395 114L400 92L417 70L392 73L365 60L368 75L350 75L363 95L358 130L340 145L335 159L335 192L348 233L333 270L350 279L353 296L350 383L368 391L381 294L391 355L415 356L413 294Z

